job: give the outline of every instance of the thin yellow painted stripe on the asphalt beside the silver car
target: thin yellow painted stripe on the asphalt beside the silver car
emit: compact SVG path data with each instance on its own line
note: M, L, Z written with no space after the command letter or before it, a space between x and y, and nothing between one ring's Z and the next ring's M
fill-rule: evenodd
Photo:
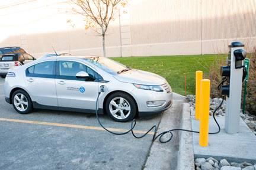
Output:
M65 128L78 128L78 129L91 129L91 130L104 130L101 127L97 126L84 126L84 125L72 125L72 124L65 124L65 123L53 123L53 122L39 122L34 120L21 120L21 119L7 119L7 118L0 118L0 121L4 122L17 122L17 123L28 123L28 124L35 124L35 125L46 125L46 126L58 126L58 127L65 127ZM107 128L113 132L126 132L127 129L117 129L117 128ZM146 131L143 130L133 130L134 133L144 134ZM149 135L153 135L153 132L149 132Z

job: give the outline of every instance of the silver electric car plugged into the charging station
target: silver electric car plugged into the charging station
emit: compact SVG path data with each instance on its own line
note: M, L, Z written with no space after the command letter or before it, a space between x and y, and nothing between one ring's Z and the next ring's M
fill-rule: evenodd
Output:
M52 56L12 68L4 94L21 114L33 108L85 113L97 108L118 122L172 105L172 90L163 77L92 56Z

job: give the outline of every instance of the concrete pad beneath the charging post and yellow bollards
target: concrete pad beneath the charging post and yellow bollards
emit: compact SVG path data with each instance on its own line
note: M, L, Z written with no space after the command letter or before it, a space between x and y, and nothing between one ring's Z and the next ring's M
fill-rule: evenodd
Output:
M226 158L231 162L246 161L256 164L256 136L241 119L240 132L228 134L225 132L225 116L216 117L221 131L216 135L209 135L209 146L204 148L199 146L199 133L193 133L194 154L196 158L206 158L214 156L217 159ZM193 130L199 130L199 121L192 117ZM209 132L216 132L217 125L210 116Z

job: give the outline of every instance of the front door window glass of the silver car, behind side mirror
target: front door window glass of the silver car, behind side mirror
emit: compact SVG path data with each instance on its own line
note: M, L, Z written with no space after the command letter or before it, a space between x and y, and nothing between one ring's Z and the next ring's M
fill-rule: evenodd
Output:
M57 79L66 79L66 80L80 80L85 81L84 79L76 78L76 74L80 71L85 71L89 74L89 77L92 79L88 79L87 81L94 81L97 79L97 73L91 68L85 66L82 63L78 63L76 61L59 61L59 75L57 75ZM103 79L99 74L98 77Z

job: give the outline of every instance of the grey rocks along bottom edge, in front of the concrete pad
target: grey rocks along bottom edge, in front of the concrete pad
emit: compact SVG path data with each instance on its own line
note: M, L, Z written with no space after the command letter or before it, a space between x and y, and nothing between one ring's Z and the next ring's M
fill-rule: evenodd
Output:
M228 162L226 159L217 160L213 157L195 159L195 169L201 170L256 170L256 164L248 162Z

